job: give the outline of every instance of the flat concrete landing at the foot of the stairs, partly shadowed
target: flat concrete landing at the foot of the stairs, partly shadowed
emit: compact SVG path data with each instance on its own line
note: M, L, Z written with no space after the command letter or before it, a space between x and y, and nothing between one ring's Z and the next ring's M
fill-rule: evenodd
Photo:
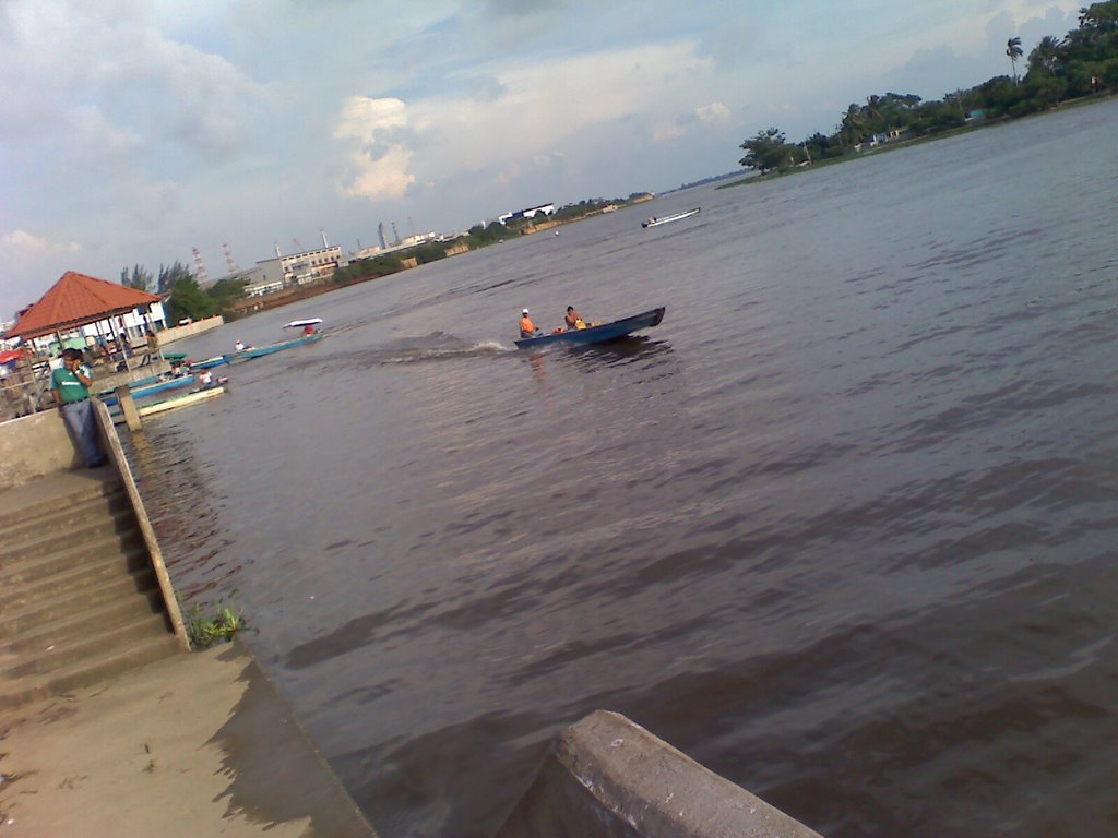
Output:
M0 721L0 837L376 836L248 651L176 655Z

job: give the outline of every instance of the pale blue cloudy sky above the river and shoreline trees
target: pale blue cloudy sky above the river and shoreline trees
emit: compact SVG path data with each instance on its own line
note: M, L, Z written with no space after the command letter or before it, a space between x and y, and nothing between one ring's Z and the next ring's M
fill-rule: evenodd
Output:
M210 279L738 170L939 99L1081 0L0 0L0 322L66 270Z

